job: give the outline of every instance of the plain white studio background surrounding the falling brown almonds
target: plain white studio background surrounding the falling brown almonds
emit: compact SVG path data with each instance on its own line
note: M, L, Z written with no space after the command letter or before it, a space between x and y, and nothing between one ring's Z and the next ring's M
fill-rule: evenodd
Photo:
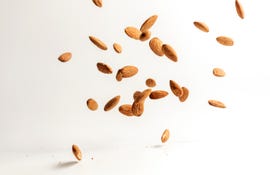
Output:
M1 0L0 173L270 174L270 14L266 0L240 2L244 20L234 0L103 0L102 8L91 0ZM124 33L153 14L152 36L175 48L177 63ZM193 21L205 22L210 32ZM109 49L95 47L89 35ZM218 44L220 35L235 45ZM66 51L72 59L59 62ZM114 73L100 73L97 62ZM125 65L139 73L117 82L115 73ZM227 75L214 77L214 67ZM131 103L149 77L169 95L147 100L140 118L117 107L103 111L116 95L120 104ZM171 93L170 79L189 88L185 103ZM98 101L97 111L88 110L88 98ZM209 99L227 108L213 108ZM171 138L161 144L166 128ZM72 144L82 149L79 163Z

